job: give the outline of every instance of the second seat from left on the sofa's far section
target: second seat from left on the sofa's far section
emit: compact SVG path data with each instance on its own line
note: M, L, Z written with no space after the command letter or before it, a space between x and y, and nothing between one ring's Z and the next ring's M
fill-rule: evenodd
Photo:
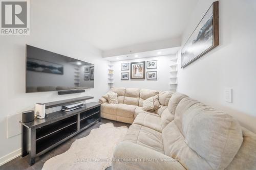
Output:
M131 117L134 118L134 111L138 106L134 105L125 105L125 104L116 104L116 115L122 117Z

